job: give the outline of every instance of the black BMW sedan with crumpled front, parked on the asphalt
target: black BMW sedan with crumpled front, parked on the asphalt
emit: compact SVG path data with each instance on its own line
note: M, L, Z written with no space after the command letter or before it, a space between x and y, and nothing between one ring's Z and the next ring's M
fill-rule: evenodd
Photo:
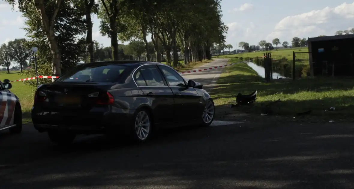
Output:
M159 127L209 126L215 107L202 85L165 64L102 61L81 64L34 97L32 121L52 142L77 134L124 134L146 141Z

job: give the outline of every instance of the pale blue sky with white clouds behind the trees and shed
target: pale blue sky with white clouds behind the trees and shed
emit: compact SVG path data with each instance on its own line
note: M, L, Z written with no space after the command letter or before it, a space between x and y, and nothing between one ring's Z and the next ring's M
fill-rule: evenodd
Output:
M337 30L354 27L353 0L222 0L222 11L229 26L226 43L234 48L240 41L256 45L260 40L279 38L290 43L295 36L334 35ZM20 12L0 0L0 44L25 37L20 29L23 20ZM110 40L99 34L96 16L93 23L93 39L110 46Z

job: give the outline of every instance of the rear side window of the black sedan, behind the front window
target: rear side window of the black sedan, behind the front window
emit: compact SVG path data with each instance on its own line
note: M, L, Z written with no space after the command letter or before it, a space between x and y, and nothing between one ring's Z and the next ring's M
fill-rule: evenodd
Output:
M138 86L165 86L164 80L156 65L142 66L136 72L134 79Z

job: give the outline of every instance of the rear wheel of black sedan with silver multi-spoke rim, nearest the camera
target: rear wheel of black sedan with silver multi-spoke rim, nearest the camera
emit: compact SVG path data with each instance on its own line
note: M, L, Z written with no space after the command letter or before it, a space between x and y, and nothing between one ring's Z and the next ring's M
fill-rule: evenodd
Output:
M148 141L153 134L153 118L148 109L138 109L133 116L131 124L132 139L138 143Z

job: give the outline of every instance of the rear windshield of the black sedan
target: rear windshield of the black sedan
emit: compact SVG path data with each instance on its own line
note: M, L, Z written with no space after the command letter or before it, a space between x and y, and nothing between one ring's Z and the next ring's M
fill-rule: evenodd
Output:
M79 65L67 71L56 82L118 82L126 65Z

